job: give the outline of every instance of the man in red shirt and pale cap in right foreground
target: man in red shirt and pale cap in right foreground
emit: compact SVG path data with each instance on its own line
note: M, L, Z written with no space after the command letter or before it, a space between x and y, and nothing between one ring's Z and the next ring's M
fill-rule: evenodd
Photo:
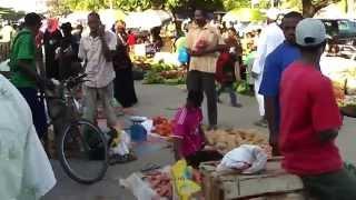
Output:
M335 138L342 127L332 82L320 72L326 44L322 21L305 19L296 28L301 58L283 73L279 148L283 167L301 178L320 200L355 200L356 180L343 166Z

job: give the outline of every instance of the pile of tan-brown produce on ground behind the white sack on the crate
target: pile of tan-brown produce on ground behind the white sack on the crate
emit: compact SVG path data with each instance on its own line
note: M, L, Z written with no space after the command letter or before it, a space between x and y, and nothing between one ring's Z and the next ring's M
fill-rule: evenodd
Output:
M209 144L214 146L221 153L227 153L230 150L238 148L241 144L259 146L270 153L268 139L257 130L245 129L228 129L206 131L206 137Z

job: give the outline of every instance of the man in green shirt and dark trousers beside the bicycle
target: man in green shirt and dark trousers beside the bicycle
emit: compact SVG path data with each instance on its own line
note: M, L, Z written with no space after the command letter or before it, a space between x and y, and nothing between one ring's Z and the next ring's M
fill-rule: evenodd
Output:
M40 77L36 68L34 37L41 27L41 17L28 13L24 28L13 40L10 53L11 82L23 96L31 108L33 123L40 138L47 132L43 101L38 97L38 87L52 87L51 81Z

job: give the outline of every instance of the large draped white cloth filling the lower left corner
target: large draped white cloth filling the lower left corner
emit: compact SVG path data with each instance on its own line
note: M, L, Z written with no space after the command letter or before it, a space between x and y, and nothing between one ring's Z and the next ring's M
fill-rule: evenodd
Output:
M0 110L0 199L38 200L56 178L28 103L1 74Z

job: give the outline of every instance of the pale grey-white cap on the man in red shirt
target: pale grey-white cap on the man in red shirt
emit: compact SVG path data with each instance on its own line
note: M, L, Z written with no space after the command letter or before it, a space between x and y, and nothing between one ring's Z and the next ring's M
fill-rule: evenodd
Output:
M296 42L301 47L314 47L326 40L326 29L318 19L306 18L296 27Z

